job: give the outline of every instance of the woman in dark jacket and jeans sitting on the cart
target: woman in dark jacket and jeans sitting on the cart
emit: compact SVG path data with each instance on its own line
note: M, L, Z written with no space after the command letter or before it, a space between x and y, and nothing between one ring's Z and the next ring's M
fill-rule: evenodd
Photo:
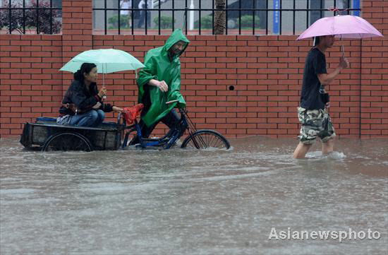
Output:
M83 63L74 73L74 81L66 91L59 108L57 124L71 126L98 126L105 112L122 112L123 109L104 103L105 87L97 89L97 66Z

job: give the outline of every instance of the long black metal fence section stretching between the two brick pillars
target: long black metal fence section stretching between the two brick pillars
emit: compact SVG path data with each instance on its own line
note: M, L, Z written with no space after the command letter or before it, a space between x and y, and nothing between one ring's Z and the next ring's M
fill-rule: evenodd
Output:
M211 30L211 34L214 35L214 13L220 11L220 9L214 8L214 0L195 0L195 8L193 8L193 0L145 1L143 8L138 6L140 0L130 0L131 6L129 8L120 8L122 0L94 1L99 1L101 6L96 6L97 4L95 4L93 16L95 20L103 20L100 30L105 35L108 33L121 34L123 31L132 35L161 35L162 32L174 30L175 28L183 28L186 34L194 33L198 35L203 34L205 30L207 32ZM210 8L204 7L204 2L207 2L208 6L211 4ZM336 12L329 11L329 7L337 6L340 2L344 5L342 7L346 8L341 8L337 13L359 16L360 0L226 0L226 8L221 10L226 12L225 34L295 35L299 30L308 28L318 18L334 16ZM169 4L169 8L162 8L162 6L167 4ZM328 4L330 6L327 6ZM356 4L356 8L351 8L351 4L353 6ZM301 8L301 5L304 7ZM120 14L121 11L126 11L129 14L123 16ZM162 12L170 12L172 14L169 17L171 22L168 28L163 28L165 17L162 16ZM190 21L188 19L190 18L192 21L191 15L194 12L197 13L197 19L195 21L196 28L193 29L193 25L189 24ZM183 13L183 18L181 18L179 25L176 25L175 22L176 13ZM204 13L207 13L207 15L205 16ZM150 24L152 23L150 16L154 16L154 23L156 24L154 28ZM205 25L204 17L207 17L207 24ZM126 20L128 25L123 25L124 19L128 19L128 22ZM108 26L109 22L107 20L111 22L111 27ZM114 24L112 25L112 23ZM143 28L142 25L139 25L138 28L135 28L136 23L142 23L145 26ZM236 26L233 27L233 24L236 24ZM291 28L287 28L286 33L284 33L283 28L285 24L287 26L291 25ZM299 28L296 28L297 24ZM188 28L188 26L191 26L191 28Z

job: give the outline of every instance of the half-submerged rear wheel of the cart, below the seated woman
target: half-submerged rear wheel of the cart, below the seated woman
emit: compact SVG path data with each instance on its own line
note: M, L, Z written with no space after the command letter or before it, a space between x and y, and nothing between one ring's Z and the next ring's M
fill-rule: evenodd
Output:
M76 133L59 133L50 136L42 147L42 151L84 150L92 151L93 147L87 138Z

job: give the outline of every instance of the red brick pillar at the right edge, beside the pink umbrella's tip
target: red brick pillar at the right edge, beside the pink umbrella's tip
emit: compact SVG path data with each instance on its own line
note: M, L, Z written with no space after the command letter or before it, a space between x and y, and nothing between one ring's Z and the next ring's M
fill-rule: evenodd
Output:
M364 0L361 16L384 37L362 40L360 137L388 136L388 1Z

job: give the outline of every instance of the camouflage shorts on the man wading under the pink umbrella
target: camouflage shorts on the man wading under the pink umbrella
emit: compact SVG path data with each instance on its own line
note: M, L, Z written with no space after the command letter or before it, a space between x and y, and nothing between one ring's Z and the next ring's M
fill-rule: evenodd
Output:
M322 143L336 136L329 114L325 109L305 109L298 107L298 118L301 121L299 141L305 144L315 142L319 137Z

